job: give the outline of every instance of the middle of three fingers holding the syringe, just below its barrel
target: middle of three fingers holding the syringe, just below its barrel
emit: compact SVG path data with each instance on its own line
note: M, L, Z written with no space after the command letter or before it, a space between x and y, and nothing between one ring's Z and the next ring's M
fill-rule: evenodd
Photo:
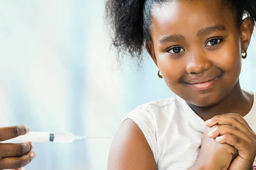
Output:
M0 144L0 158L6 157L17 157L22 156L28 153L34 148L32 142L23 142L23 143L3 143Z

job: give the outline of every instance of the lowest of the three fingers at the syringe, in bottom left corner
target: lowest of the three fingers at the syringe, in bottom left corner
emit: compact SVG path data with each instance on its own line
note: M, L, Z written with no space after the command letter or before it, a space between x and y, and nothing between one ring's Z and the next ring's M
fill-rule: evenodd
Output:
M20 157L3 158L0 160L0 170L24 167L29 164L35 156L34 152L29 152Z

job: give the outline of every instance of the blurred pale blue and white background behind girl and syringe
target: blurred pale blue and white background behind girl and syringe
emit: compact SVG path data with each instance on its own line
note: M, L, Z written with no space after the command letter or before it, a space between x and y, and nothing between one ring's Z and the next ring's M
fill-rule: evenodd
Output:
M0 1L0 126L109 137L36 143L26 170L106 170L119 123L146 102L174 94L145 57L122 69L109 50L105 0ZM256 91L256 39L241 86ZM135 63L135 64L134 64Z

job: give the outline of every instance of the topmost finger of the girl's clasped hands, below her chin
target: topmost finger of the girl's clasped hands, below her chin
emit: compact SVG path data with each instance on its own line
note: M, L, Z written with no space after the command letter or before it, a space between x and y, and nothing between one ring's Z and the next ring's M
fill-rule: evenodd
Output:
M229 114L225 115L219 115L219 116L214 116L212 119L207 120L205 123L208 127L212 127L213 125L230 125L234 127L238 127L239 129L243 130L245 133L250 135L253 139L256 139L255 133L248 127L247 125L244 124L244 122L241 122L236 117L233 116L228 116Z

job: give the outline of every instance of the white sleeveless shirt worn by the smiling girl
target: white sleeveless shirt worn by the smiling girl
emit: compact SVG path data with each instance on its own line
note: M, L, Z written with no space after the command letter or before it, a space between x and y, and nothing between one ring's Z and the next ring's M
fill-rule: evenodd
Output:
M253 107L244 116L256 132L256 93ZM158 170L187 170L198 157L206 127L179 96L140 105L125 119L132 119L151 147Z

